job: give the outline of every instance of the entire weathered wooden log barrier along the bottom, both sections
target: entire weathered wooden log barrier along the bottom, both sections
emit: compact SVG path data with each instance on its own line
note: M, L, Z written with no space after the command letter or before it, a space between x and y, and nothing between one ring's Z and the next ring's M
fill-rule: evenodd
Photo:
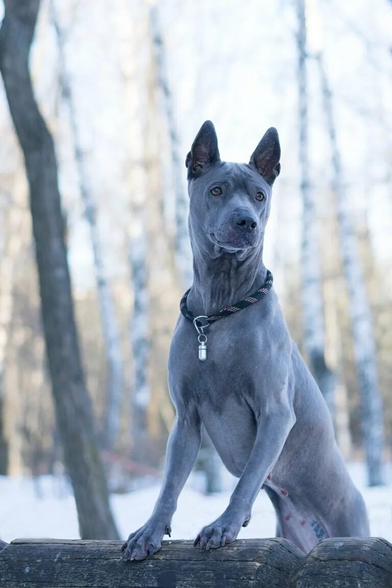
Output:
M209 552L165 541L143 562L121 544L17 539L0 550L0 588L392 588L392 545L375 537L326 539L307 556L285 539Z

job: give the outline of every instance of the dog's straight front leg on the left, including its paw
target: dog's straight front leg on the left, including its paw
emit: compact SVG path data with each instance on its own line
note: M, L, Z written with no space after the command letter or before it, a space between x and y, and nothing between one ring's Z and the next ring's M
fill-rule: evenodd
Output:
M146 524L131 533L122 546L126 559L145 559L156 553L177 507L177 499L200 448L200 419L196 410L177 413L166 448L165 477L154 510Z

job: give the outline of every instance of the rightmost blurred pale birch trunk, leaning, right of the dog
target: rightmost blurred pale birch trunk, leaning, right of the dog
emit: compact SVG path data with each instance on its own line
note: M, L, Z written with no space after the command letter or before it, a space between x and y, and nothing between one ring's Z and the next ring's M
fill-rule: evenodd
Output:
M337 220L340 233L340 251L349 293L351 325L357 378L362 398L363 432L366 449L368 483L383 484L383 407L378 386L376 344L373 323L367 299L356 234L350 219L349 203L343 182L341 157L336 139L332 95L324 68L323 56L317 56L324 112L333 166L333 190L337 199Z

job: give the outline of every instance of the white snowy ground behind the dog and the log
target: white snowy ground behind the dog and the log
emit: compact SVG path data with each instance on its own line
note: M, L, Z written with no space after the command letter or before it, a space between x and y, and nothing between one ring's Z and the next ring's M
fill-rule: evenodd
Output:
M350 465L356 485L363 492L370 516L371 534L392 542L392 466L387 468L387 486L367 488L364 468ZM226 492L205 496L195 488L193 477L183 490L173 517L173 539L194 539L200 527L211 522L226 508L234 480L225 478ZM112 495L113 512L122 537L141 526L150 515L159 485L125 495ZM9 542L16 537L79 537L75 503L68 483L62 478L38 480L0 477L0 536ZM274 512L266 493L254 503L252 520L240 537L274 536Z

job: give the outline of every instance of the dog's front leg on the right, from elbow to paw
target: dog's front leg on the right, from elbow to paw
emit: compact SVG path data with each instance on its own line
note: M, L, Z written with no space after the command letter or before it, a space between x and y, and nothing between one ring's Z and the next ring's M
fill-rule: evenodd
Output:
M218 519L203 527L195 545L200 543L201 549L211 549L236 539L241 527L249 522L253 502L277 462L295 420L293 407L287 401L260 417L252 452L229 506Z

